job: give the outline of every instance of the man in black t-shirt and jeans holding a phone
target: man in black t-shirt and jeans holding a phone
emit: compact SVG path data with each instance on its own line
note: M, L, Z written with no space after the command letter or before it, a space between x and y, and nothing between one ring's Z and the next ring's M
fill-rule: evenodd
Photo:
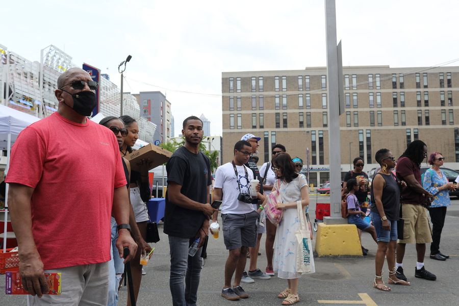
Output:
M169 236L172 303L196 305L201 245L209 233L209 216L215 210L209 204L210 162L199 151L203 136L201 119L186 118L182 134L185 145L175 150L166 165L164 233ZM188 256L188 248L197 238L198 250L193 257Z

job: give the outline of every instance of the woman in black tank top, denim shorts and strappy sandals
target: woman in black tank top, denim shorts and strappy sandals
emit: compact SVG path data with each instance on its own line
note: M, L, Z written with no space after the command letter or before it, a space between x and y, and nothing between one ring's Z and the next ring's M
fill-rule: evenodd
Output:
M409 282L397 278L395 268L395 247L397 246L397 220L400 212L399 184L391 172L395 168L395 158L388 149L380 149L375 155L381 169L374 176L371 185L371 220L376 230L378 250L375 258L375 278L373 287L381 291L391 291L382 281L384 257L389 268L388 284L409 286Z

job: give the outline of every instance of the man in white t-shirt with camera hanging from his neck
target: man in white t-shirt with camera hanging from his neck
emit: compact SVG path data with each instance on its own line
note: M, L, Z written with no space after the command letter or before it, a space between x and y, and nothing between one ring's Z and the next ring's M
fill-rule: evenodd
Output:
M223 221L223 240L229 256L225 264L225 284L221 295L228 300L247 298L248 294L240 286L242 272L246 263L248 247L257 242L257 219L259 214L250 197L250 180L253 172L245 166L252 155L250 143L245 140L236 142L234 158L217 168L215 172L214 200L222 200L221 218ZM260 186L260 185L258 185ZM218 212L213 215L217 221ZM235 274L234 286L231 279Z

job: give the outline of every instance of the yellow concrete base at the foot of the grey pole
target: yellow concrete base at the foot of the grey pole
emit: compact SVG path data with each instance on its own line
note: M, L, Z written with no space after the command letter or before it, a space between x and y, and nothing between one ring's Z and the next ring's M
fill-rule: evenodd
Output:
M354 224L324 224L317 228L317 256L363 256Z

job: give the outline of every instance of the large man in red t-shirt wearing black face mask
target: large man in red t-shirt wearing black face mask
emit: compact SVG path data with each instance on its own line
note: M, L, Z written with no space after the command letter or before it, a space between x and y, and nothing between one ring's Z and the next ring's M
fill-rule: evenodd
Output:
M24 129L11 151L6 182L19 271L34 304L107 304L111 215L120 257L123 247L126 261L137 250L118 143L86 117L97 89L86 71L67 70L58 87L58 111ZM44 272L62 273L61 295L43 295Z

